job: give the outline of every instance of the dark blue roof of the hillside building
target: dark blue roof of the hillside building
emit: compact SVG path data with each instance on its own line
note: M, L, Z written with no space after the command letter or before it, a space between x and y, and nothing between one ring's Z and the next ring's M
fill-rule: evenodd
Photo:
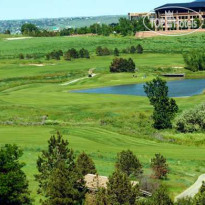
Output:
M172 4L164 4L160 7L155 8L155 10L160 10L163 7L168 8L175 8L175 7L184 7L189 9L195 9L195 8L205 8L205 0L196 0L190 3L172 3Z

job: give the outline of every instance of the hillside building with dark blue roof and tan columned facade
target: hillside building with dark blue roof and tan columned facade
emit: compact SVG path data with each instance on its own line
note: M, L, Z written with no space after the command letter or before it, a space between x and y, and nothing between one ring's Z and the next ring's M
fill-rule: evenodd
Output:
M152 24L155 21L155 30L196 29L203 25L205 19L205 0L165 4L155 8L154 13L129 13L128 16L130 20L147 16Z

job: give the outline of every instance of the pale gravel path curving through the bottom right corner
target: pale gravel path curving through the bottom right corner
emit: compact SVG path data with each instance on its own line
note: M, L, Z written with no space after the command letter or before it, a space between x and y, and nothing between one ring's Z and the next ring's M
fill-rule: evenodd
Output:
M175 201L185 197L194 197L199 192L203 181L205 181L205 174L199 176L197 181L192 186L190 186L187 190L185 190L175 198Z

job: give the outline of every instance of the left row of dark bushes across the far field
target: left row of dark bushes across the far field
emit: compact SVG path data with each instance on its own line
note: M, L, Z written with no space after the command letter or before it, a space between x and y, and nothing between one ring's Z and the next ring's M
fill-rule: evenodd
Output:
M72 58L90 58L90 54L88 50L82 48L79 51L77 51L76 49L71 48L67 52L63 52L62 50L58 50L58 51L54 50L50 53L47 53L46 59L60 60L62 56L64 56L64 59L67 61L70 61Z

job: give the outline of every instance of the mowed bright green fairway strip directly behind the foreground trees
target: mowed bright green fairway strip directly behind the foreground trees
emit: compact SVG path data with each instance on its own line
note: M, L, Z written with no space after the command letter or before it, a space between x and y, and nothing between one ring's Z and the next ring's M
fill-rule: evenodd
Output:
M172 196L180 193L191 185L200 173L205 171L204 148L157 143L145 139L133 138L126 135L110 132L102 128L60 127L64 137L69 140L70 147L78 155L86 151L95 161L99 174L110 175L114 170L115 157L118 152L131 149L143 163L145 174L151 174L150 159L155 153L163 154L170 166L170 175L165 184L169 186ZM36 174L36 159L40 150L45 149L50 135L56 132L52 127L0 127L1 145L15 143L24 149L22 161L26 162L24 168L29 182L32 196L37 184L33 175ZM38 204L36 202L36 204Z

